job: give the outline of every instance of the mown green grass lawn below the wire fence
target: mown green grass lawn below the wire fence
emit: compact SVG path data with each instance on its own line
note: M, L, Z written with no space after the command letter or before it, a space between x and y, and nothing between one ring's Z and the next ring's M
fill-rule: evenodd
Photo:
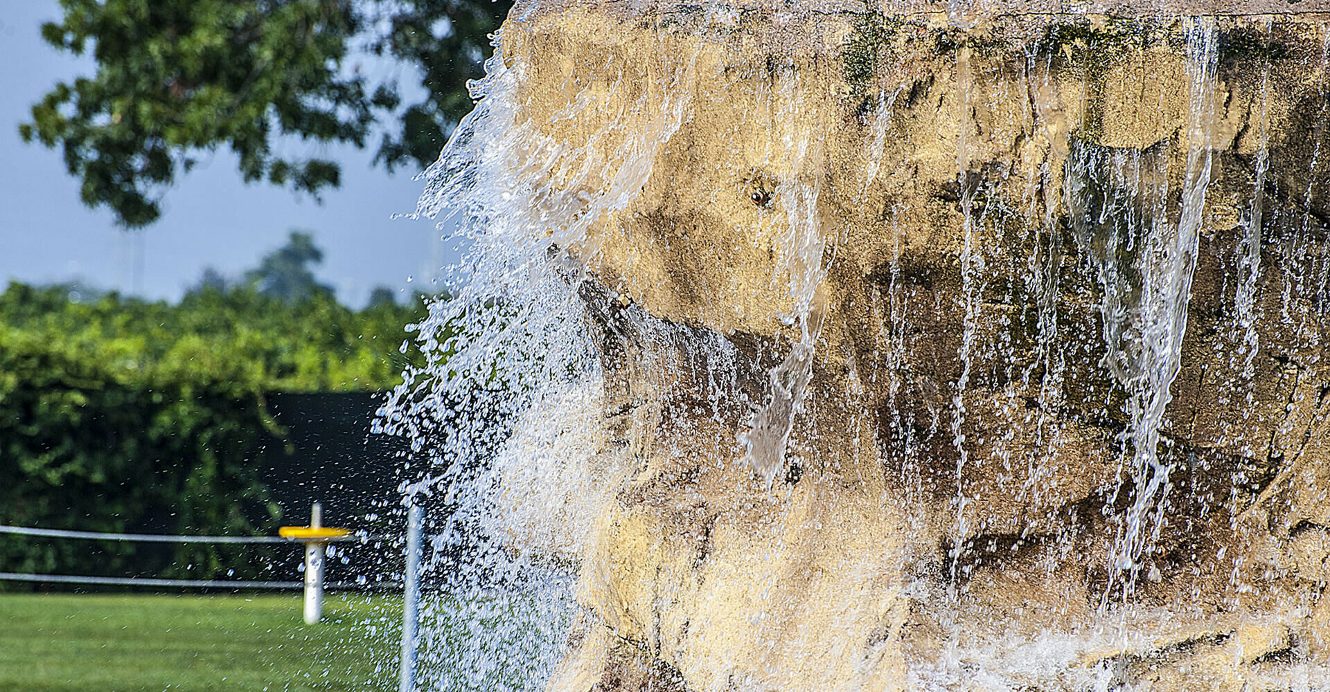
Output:
M298 595L0 594L0 692L395 689L396 603L307 626Z

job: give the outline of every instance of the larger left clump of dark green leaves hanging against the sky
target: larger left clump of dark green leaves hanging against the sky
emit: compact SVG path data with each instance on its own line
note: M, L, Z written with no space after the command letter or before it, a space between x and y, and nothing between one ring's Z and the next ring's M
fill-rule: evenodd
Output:
M363 143L372 116L360 80L340 74L356 29L350 0L61 0L51 45L97 74L59 84L32 109L24 139L64 146L89 206L126 226L161 214L154 191L189 170L194 153L230 145L246 181L317 193L336 185L334 162L274 155L273 130Z

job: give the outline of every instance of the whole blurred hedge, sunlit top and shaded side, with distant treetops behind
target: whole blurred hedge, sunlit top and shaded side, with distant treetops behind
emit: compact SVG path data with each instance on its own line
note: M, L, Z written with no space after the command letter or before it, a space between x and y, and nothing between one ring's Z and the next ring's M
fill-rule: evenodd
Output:
M402 305L380 292L351 309L315 282L309 264L321 256L309 235L293 234L242 279L211 272L178 304L11 283L0 294L0 523L271 533L278 507L262 470L285 432L266 397L380 392L420 360L406 325L426 316L423 296ZM0 564L254 578L263 562L249 546L89 550L0 537Z

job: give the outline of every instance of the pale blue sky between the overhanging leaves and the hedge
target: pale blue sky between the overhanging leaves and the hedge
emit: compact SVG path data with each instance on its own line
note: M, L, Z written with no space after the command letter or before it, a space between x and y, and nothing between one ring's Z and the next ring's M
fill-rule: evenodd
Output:
M428 287L436 270L456 260L434 220L394 219L411 213L423 182L416 170L388 174L371 166L371 149L289 139L282 151L327 157L342 165L342 186L309 195L270 185L246 185L229 151L205 154L166 191L162 218L138 231L116 226L105 209L78 199L59 149L24 143L19 124L59 81L94 72L92 60L48 46L44 21L59 17L57 0L0 0L0 290L12 280L77 280L154 300L178 300L205 267L229 276L253 268L282 246L293 228L307 230L323 248L315 276L351 305L376 286L398 291ZM360 60L371 80L411 69ZM407 80L411 82L411 78ZM376 142L378 137L371 137ZM414 280L415 283L408 283Z

